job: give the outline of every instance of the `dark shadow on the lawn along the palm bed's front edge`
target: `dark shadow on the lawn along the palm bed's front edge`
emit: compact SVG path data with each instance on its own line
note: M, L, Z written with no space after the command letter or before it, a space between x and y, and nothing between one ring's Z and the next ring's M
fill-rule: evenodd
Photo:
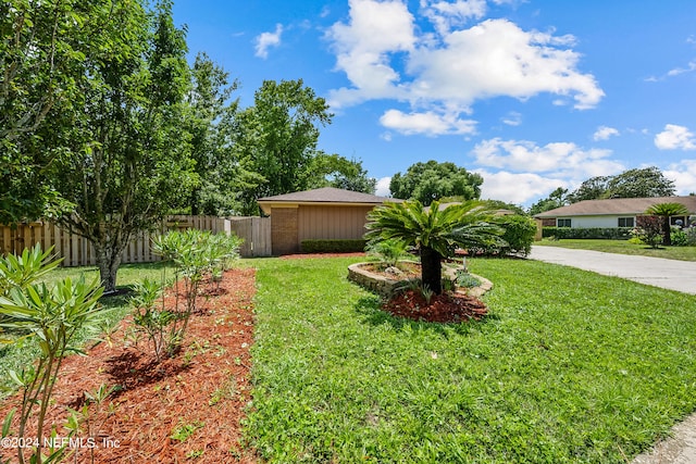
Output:
M401 331L409 327L413 331L428 330L438 334L444 338L449 338L453 331L458 335L468 335L477 327L489 322L497 321L499 316L487 314L481 321L464 321L461 323L427 323L413 321L407 317L397 317L381 308L382 301L380 297L362 297L355 304L355 311L362 317L362 322L372 326L381 326L389 324L395 330Z

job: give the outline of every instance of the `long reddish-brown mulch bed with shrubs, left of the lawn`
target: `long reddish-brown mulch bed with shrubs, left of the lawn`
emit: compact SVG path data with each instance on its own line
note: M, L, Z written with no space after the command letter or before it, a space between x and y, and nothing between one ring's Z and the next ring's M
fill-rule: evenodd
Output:
M128 322L124 321L112 347L102 342L86 358L65 359L47 424L64 424L66 407L85 404L85 391L95 391L102 384L119 385L122 389L102 407L90 406L92 436L97 437L94 462L256 462L253 452L240 446L240 421L251 399L254 271L228 271L220 290L210 284L203 289L199 311L191 316L184 347L175 358L157 364L147 339L128 346L124 341ZM0 417L20 400L17 396L7 399L0 405ZM195 429L184 441L171 438L181 425ZM67 432L59 427L58 437L67 437ZM84 431L78 437L86 441L89 435ZM77 451L76 460L71 456L67 462L91 462L87 448L72 449ZM9 452L15 450L0 449L2 457L11 457ZM200 457L189 457L194 455Z

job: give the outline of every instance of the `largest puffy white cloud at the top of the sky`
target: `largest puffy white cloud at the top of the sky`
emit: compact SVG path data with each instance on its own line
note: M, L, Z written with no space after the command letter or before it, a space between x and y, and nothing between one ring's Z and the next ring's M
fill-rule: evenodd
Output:
M435 33L417 27L405 0L350 0L349 21L326 34L336 71L350 80L330 93L332 108L393 99L410 103L412 114L458 118L492 97L547 92L583 110L605 95L592 74L577 70L572 36L527 32L502 18L467 28L485 14L484 0L421 0L421 7Z

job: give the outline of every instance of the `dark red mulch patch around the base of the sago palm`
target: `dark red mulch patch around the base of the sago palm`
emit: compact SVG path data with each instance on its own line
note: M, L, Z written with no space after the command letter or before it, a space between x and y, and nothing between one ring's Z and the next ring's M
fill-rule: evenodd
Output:
M486 305L474 297L442 293L431 298L430 304L420 290L407 290L382 305L395 316L431 323L478 321L486 315Z

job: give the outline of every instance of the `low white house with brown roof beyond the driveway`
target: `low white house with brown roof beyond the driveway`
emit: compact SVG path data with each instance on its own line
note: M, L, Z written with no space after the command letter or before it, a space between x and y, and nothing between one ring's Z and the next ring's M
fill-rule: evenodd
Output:
M696 197L656 197L584 200L536 214L534 217L540 220L542 225L546 227L635 227L636 217L644 215L648 208L658 203L682 203L689 211L689 215L696 215ZM681 224L686 226L689 225L689 215L673 216L670 221L674 225L681 221Z

